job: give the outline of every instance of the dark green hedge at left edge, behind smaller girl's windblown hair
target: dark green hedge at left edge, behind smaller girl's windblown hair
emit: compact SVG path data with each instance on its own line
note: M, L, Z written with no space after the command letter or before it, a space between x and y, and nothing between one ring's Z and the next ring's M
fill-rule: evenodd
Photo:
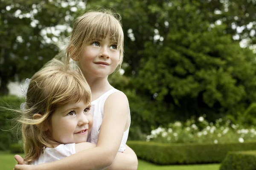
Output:
M15 113L6 110L6 108L20 108L22 102L24 99L16 96L0 98L0 150L9 150L10 144L17 143L20 134L17 133L17 129L13 129L17 123L13 120Z

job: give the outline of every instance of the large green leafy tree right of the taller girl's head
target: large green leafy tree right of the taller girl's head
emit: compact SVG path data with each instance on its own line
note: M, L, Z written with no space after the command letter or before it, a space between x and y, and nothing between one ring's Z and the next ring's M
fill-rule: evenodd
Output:
M239 8L253 1L97 2L88 1L87 7L113 8L122 16L124 76L130 78L125 87L136 89L136 97L148 103L141 105L145 107L142 119L150 112L154 125L164 125L205 113L213 121L227 113L244 112L255 102L256 55L233 39L237 32L230 18L240 18L237 26L253 22L254 6L245 11ZM242 16L248 10L253 17ZM150 119L143 125L149 126Z

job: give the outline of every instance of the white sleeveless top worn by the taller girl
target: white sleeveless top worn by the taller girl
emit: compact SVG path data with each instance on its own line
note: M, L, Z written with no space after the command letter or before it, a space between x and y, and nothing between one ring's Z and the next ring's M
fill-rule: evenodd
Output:
M102 96L100 96L98 99L91 102L91 105L92 105L91 111L92 111L92 114L93 114L93 127L92 127L92 130L91 130L90 134L88 135L87 142L97 144L100 126L102 125L105 101L106 101L106 99L108 98L109 95L111 95L111 94L113 94L117 91L119 91L119 90L113 88L113 89L107 91L105 94L102 94ZM130 128L130 125L131 125L130 109L129 109L129 119L130 119L129 127L123 133L122 142L121 142L121 145L119 147L118 152L124 152L125 151L125 144L126 144L127 139L128 139L129 128Z

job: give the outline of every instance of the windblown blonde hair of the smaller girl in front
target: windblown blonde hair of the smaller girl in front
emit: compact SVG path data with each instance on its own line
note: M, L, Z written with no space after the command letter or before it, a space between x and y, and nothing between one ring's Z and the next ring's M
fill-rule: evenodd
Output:
M52 59L34 74L29 82L25 108L18 118L22 124L25 161L37 159L44 147L56 143L44 130L55 109L81 100L91 101L90 87L82 74L72 70L70 65ZM33 118L36 113L41 117Z

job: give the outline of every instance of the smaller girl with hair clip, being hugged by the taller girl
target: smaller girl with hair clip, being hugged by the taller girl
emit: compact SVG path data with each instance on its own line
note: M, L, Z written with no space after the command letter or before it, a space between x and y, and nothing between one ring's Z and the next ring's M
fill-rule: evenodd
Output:
M95 147L86 142L93 125L90 101L90 87L84 77L63 62L53 59L38 71L29 82L18 119L22 123L24 160L37 165ZM120 155L125 154L117 157ZM109 169L119 169L116 165Z

